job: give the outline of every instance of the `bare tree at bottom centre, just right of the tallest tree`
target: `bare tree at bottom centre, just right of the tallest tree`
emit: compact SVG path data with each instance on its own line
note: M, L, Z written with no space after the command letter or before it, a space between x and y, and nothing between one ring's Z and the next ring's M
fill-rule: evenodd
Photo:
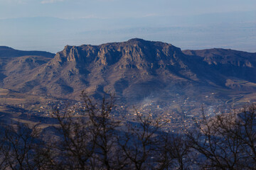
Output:
M119 145L127 157L129 169L154 169L159 166L158 131L166 122L136 113L137 122L127 123L127 132L119 138Z

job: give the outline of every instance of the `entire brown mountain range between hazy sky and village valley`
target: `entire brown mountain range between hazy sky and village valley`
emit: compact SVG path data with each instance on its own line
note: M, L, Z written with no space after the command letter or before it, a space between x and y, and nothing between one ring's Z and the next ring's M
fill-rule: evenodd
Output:
M164 42L132 39L103 45L65 46L50 52L0 47L0 87L26 94L79 99L114 93L124 103L177 95L199 102L256 98L256 53L225 49L183 50ZM215 94L213 98L206 98ZM214 99L214 100L213 100Z

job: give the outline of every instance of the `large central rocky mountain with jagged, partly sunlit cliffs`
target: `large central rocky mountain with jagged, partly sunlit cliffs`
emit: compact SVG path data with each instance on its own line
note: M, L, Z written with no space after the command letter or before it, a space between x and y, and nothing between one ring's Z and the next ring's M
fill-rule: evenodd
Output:
M85 89L92 94L112 91L140 98L174 79L196 80L189 62L178 47L132 39L99 46L66 46L47 66L60 73L58 79L66 77L65 84L73 89L72 93Z

